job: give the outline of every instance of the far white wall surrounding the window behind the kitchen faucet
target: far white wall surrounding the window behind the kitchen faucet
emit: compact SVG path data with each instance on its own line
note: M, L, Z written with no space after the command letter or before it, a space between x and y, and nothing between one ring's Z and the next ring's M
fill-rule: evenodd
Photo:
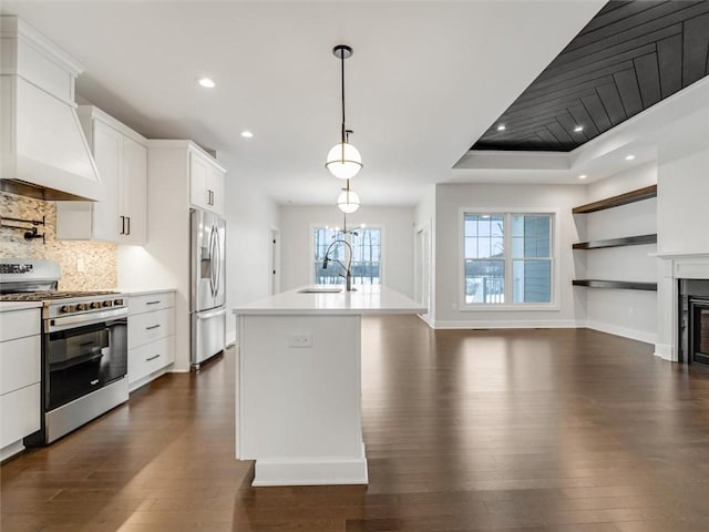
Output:
M382 228L382 283L413 297L413 207L368 207L347 217L348 227L367 224ZM312 283L311 227L342 226L337 206L280 206L282 290Z

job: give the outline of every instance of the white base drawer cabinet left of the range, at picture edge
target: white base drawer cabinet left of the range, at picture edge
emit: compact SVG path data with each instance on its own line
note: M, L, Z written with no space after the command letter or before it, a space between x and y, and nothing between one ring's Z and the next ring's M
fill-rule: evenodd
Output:
M40 429L40 309L0 311L0 460Z

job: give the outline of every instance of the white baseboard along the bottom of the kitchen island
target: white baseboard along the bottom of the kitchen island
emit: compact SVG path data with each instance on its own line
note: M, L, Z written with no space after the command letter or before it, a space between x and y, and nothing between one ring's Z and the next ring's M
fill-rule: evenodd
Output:
M251 485L368 484L367 458L256 459Z

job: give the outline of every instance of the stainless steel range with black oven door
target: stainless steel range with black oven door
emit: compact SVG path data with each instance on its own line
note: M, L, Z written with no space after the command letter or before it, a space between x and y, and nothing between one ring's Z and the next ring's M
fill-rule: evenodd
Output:
M51 260L0 259L0 301L42 303L42 427L50 443L129 399L127 299L115 291L58 291Z

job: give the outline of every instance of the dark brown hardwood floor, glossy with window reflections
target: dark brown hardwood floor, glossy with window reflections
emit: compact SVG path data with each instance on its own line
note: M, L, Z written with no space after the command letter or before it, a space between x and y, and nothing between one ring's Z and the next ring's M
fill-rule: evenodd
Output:
M709 530L709 371L586 329L363 320L368 487L258 488L234 354L2 466L3 532Z

